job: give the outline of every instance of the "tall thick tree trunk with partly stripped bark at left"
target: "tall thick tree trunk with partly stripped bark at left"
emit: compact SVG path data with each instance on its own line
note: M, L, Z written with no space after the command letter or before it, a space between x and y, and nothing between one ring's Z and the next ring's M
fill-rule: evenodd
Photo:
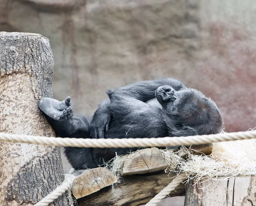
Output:
M52 98L53 67L46 37L0 32L0 132L55 135L37 105ZM58 147L0 142L1 206L32 206L63 179ZM62 195L50 205L65 201Z

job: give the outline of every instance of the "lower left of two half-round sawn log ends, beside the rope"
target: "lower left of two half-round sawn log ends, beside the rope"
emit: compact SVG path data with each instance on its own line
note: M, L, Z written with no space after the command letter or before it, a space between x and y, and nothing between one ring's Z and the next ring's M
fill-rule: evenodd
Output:
M80 173L81 171L78 170L78 172ZM73 172L73 174L76 175L78 172ZM116 182L116 176L104 167L84 170L83 173L75 179L72 194L76 199L83 198Z

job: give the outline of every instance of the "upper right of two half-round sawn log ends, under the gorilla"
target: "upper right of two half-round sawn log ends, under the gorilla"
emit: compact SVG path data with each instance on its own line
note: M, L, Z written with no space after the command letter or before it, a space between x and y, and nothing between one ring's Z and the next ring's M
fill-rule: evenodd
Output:
M147 148L128 155L122 169L122 176L163 171L167 167L168 164L158 148Z

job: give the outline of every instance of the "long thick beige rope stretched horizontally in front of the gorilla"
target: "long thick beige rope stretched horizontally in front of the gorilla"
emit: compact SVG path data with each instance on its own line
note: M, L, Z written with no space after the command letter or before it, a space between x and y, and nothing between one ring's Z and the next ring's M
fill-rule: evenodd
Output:
M171 147L192 144L207 144L220 141L234 141L256 138L256 130L223 133L214 135L195 135L187 137L163 137L163 138L122 138L122 139L84 139L84 138L57 138L31 135L16 135L0 133L0 141L19 142L29 144L42 144L60 147Z

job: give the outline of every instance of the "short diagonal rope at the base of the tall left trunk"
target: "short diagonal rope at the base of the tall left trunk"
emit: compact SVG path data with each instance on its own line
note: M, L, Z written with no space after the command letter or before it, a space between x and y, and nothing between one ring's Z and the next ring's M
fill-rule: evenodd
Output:
M53 202L62 194L64 194L68 189L70 189L70 186L73 184L73 181L76 178L76 176L74 175L68 175L68 176L65 175L65 176L66 176L65 180L60 186L58 186L55 190L53 190L49 195L47 195L45 198L40 200L34 206L47 206L49 205L49 203Z

